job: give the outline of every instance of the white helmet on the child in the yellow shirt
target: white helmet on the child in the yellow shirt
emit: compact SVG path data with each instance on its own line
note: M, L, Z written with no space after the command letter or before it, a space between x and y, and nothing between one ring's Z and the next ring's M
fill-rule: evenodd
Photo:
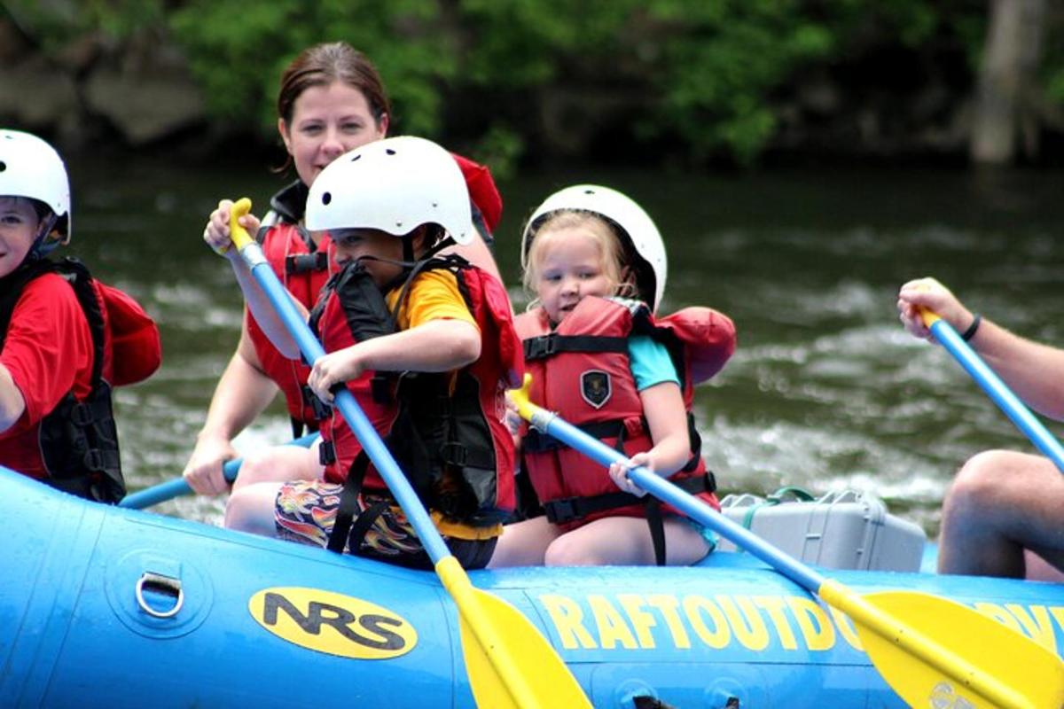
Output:
M472 239L469 190L449 152L425 138L375 140L330 163L311 185L306 229L377 229L403 236L439 224Z

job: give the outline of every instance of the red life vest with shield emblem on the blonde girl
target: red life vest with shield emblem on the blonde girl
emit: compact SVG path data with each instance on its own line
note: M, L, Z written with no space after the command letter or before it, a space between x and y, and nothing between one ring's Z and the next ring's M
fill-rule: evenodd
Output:
M518 316L517 332L525 343L532 373L530 399L555 411L569 423L626 455L653 446L643 416L643 402L632 375L628 338L647 334L666 344L681 379L692 436L692 459L669 477L714 507L712 485L699 489L706 475L691 406L694 385L716 373L735 348L730 319L710 308L685 308L654 319L646 305L624 299L584 298L556 328L543 308ZM697 364L697 368L693 365ZM605 468L587 456L537 432L529 432L522 446L525 470L552 521L575 528L606 516L643 517L643 501L620 493ZM694 483L687 483L692 480ZM598 507L585 499L610 495L631 500L625 506ZM554 513L551 513L554 509ZM666 506L667 511L679 513Z

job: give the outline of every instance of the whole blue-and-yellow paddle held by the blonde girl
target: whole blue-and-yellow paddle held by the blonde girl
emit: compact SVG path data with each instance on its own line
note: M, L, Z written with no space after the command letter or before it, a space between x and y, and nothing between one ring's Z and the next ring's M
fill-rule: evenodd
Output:
M525 386L510 392L521 418L603 466L626 460L624 454L529 401L530 381L526 375ZM653 472L634 468L628 475L655 497L745 547L849 615L872 664L910 705L1057 709L1064 704L1064 663L1030 638L970 608L927 593L860 595Z

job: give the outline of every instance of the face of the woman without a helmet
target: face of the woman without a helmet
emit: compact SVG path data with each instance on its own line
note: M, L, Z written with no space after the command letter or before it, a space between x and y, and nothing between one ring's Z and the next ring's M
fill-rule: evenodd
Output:
M296 173L310 186L334 159L360 146L380 140L388 131L388 117L373 119L363 92L335 81L311 86L293 104L292 123L278 119L284 147Z

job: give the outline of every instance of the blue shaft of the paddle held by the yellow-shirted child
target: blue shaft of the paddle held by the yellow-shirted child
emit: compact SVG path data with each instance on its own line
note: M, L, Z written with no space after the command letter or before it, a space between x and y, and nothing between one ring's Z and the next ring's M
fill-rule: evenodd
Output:
M281 322L287 328L293 339L296 340L296 344L299 345L299 351L303 354L303 358L313 365L320 357L325 356L325 349L318 342L314 333L311 332L303 316L292 303L288 292L281 285L281 282L278 281L273 269L266 263L266 257L263 255L260 246L251 241L240 249L240 254L251 268L251 274L277 310ZM429 554L432 562L436 563L444 557L449 556L450 551L444 543L439 531L433 524L417 493L414 492L414 488L411 487L406 476L399 470L399 465L392 456L392 452L388 451L377 429L373 428L373 424L369 422L369 419L362 411L362 407L359 406L359 402L355 401L354 395L346 387L343 387L336 392L333 404L344 415L344 418L351 426L351 431L354 432L354 435L362 443L366 455L373 461L373 466L377 467L381 477L384 478L396 502L399 503L403 512L406 513L406 519L410 520L410 523L417 531L417 536L421 540L421 545Z

